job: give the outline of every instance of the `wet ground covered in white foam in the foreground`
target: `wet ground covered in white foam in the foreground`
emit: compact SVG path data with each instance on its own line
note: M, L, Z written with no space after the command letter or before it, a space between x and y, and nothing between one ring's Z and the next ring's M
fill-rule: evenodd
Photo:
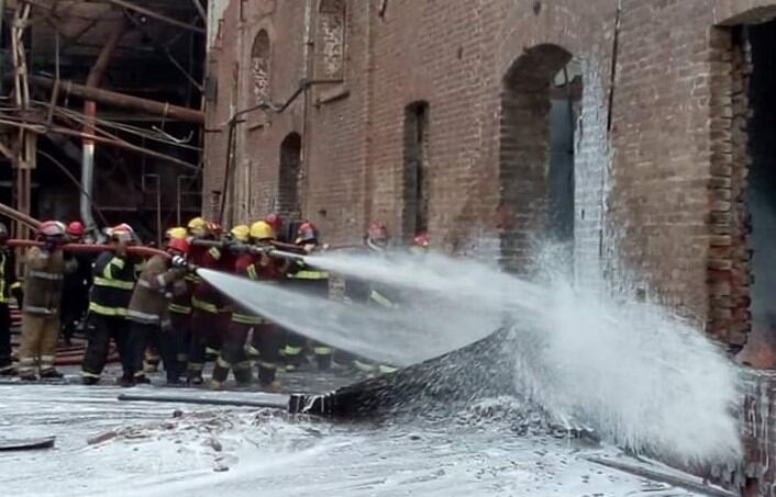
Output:
M313 376L287 377L286 384L310 391L344 381ZM0 438L57 438L53 450L0 452L1 495L696 495L586 460L621 455L614 448L532 430L509 400L435 420L375 426L273 409L118 402L126 392L0 385ZM170 389L143 386L132 393Z

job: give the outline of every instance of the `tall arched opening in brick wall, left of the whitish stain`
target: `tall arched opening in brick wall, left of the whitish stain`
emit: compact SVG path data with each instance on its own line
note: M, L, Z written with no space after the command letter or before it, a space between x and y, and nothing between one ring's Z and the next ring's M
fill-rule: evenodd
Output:
M524 272L544 242L561 268L574 253L574 144L581 75L572 54L537 45L503 79L499 147L501 264ZM558 262L558 261L554 261Z

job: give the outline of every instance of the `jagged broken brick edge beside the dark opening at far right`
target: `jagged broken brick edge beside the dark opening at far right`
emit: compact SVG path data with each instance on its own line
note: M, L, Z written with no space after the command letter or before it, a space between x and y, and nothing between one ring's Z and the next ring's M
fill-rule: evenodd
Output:
M707 331L739 351L751 329L747 214L744 203L751 64L733 30L712 31L709 323Z

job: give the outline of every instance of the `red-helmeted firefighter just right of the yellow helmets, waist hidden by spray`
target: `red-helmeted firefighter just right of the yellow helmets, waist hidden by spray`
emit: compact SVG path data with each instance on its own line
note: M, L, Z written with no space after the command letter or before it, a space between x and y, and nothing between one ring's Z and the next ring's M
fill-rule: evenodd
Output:
M302 223L297 230L295 242L306 253L320 250L315 225L309 221ZM306 266L301 261L297 261L289 267L287 278L286 284L292 290L321 298L329 298L329 273L325 271L319 271ZM286 370L295 371L302 363L304 339L290 331L286 335L286 347L284 348ZM331 347L325 343L313 343L313 353L320 371L325 371L331 368L333 353Z

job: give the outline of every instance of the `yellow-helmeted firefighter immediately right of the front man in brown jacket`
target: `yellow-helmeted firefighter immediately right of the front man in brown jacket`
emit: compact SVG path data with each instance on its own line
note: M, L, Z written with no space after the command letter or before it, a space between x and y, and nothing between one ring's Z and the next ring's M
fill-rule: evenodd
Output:
M191 229L191 223L189 225ZM219 241L220 231L221 227L218 224L204 222L204 225L200 226L198 221L197 230L191 231L195 238L191 260L197 267L214 270L226 268L231 258L223 247L218 245L198 247L196 244L197 239ZM224 297L202 279L198 279L195 284L191 307L191 341L189 343L187 381L191 385L201 385L207 352L220 348L221 335L229 326L230 314Z

